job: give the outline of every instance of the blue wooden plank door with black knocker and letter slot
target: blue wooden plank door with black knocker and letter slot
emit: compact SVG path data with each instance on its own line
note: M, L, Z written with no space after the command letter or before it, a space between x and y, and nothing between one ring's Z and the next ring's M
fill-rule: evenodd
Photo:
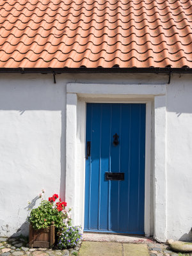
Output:
M145 109L86 105L85 231L144 234Z

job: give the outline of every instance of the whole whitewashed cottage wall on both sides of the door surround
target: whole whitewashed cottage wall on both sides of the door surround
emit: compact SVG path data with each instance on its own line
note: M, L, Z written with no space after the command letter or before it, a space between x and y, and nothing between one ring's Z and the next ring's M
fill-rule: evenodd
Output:
M192 216L191 80L191 75L174 75L166 90L164 236L173 239L192 238L189 232ZM166 84L167 81L168 76L152 74L62 74L56 76L57 83L54 84L51 75L1 74L0 236L28 234L25 224L28 200L34 200L37 205L36 196L42 188L47 196L60 193L65 199L67 83ZM152 129L154 120L152 115ZM151 156L154 156L154 150L152 134ZM154 157L152 180L153 160ZM153 188L152 182L152 199ZM151 234L154 232L153 207L151 200Z

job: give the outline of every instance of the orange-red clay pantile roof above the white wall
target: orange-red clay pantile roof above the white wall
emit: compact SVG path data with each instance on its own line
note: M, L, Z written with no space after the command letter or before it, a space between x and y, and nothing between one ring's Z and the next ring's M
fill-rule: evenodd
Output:
M0 0L0 67L192 67L192 0Z

